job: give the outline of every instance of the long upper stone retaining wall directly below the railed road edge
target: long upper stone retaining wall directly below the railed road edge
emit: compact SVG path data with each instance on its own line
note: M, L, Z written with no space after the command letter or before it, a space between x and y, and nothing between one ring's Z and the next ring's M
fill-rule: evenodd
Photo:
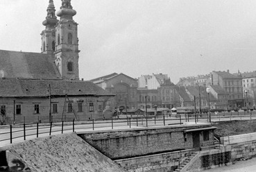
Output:
M89 144L112 160L193 148L193 136L185 129L202 126L165 126L79 133ZM203 135L200 135L203 137ZM212 139L212 138L210 138Z

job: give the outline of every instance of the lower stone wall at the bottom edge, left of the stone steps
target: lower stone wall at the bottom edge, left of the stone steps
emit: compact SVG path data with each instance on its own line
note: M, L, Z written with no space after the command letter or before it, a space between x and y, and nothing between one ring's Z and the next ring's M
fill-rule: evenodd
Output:
M116 160L115 162L130 172L173 171L182 162L182 160L189 157L193 152L194 150L182 150L172 153L161 153L157 155Z

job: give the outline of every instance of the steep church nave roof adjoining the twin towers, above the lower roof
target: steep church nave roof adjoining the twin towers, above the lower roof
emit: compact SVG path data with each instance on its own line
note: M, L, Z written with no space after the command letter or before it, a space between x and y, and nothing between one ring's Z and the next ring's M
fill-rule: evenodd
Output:
M61 78L53 55L0 50L0 78Z

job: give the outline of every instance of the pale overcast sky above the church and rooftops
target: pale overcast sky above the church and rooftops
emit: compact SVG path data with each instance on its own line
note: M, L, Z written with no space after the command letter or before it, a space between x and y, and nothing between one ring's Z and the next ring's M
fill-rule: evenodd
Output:
M49 0L0 0L0 49L40 52ZM56 10L61 0L54 0ZM255 0L72 0L80 78L256 71Z

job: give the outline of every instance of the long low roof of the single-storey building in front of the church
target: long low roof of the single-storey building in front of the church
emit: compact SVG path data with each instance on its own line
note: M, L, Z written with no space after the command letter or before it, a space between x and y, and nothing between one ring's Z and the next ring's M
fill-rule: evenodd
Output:
M49 96L48 84L53 96L114 96L89 81L67 80L0 80L1 97Z

